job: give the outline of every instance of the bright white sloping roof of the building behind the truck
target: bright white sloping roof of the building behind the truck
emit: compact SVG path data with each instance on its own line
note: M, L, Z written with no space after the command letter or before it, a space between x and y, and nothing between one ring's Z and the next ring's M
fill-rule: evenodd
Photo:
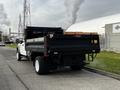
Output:
M105 33L105 25L120 22L120 14L97 18L85 22L73 24L67 29L67 32L98 32Z

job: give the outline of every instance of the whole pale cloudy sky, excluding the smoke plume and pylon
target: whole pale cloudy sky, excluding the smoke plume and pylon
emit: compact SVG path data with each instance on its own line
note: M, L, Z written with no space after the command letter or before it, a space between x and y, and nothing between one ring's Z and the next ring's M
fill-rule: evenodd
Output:
M31 0L32 25L64 27L69 19L64 2L65 0ZM12 31L17 31L19 14L23 12L23 0L0 0L0 3L4 5L10 21L9 27ZM119 3L120 0L84 0L77 12L76 23L118 14Z

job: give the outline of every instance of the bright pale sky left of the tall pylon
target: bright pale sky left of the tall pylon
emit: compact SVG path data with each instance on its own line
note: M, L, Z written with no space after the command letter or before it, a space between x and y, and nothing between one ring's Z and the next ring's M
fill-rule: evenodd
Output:
M19 13L22 11L21 0L0 0L5 7L8 20L10 21L10 27L12 31L17 31Z

